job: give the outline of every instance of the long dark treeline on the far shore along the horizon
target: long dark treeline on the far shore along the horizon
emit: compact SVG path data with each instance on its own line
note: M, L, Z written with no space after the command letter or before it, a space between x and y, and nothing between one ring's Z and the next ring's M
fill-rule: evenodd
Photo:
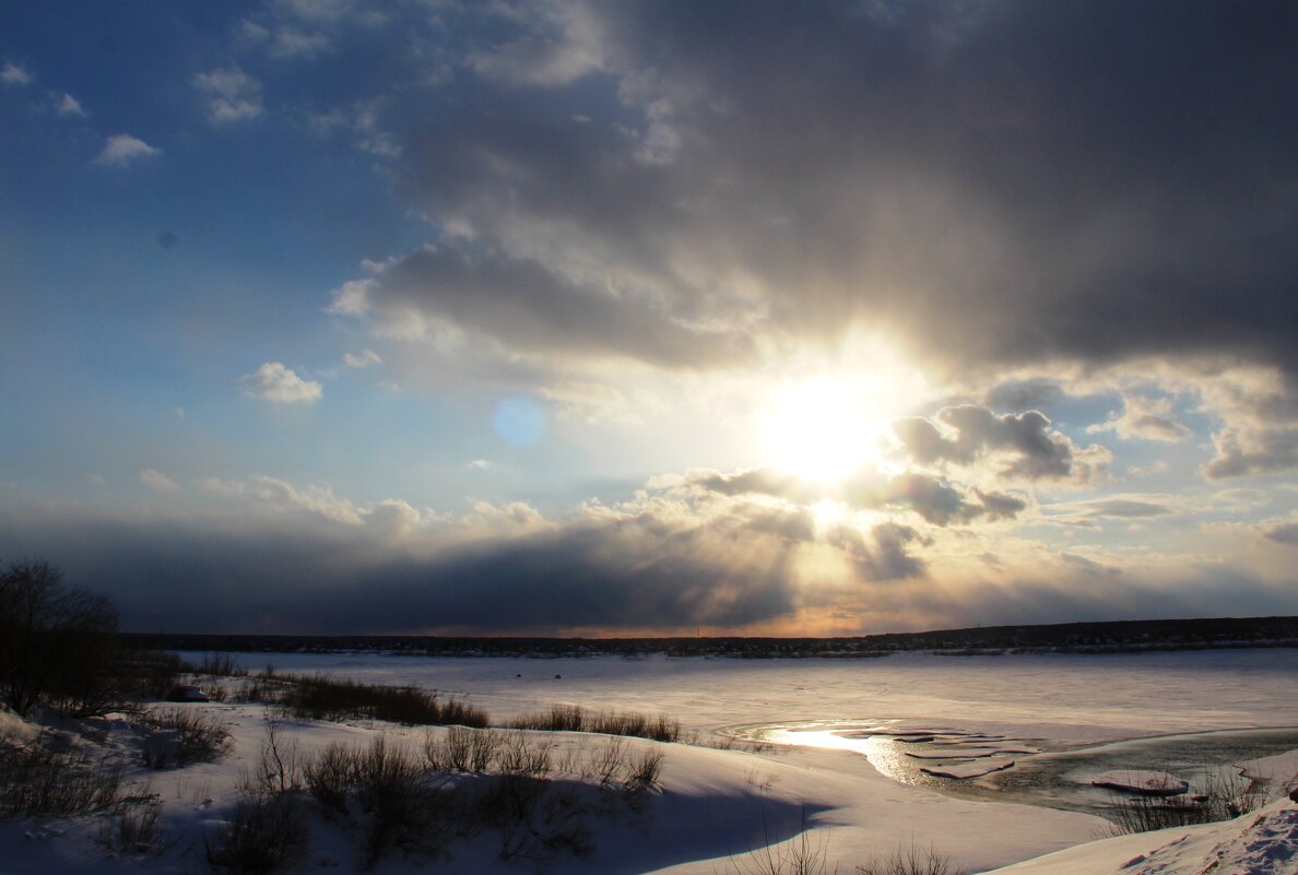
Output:
M408 656L711 656L740 658L874 657L902 650L986 653L1121 653L1298 647L1298 617L1111 621L988 626L857 637L472 637L423 635L127 634L141 649L312 653L370 650Z

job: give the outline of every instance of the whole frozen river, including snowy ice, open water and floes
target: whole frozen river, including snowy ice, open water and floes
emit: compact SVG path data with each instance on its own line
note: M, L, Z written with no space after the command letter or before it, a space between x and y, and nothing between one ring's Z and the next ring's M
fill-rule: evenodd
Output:
M236 659L253 670L273 663L276 671L443 691L485 708L497 723L556 702L661 713L704 739L848 749L902 783L1088 813L1111 804L1107 791L1089 785L1101 771L1171 771L1198 792L1210 770L1234 774L1232 763L1298 749L1294 649L868 659L243 653ZM963 776L942 776L944 770Z

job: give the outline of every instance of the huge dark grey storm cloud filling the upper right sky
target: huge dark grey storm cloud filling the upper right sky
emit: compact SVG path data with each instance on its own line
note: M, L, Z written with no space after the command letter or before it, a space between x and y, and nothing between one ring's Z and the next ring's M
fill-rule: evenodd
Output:
M498 323L472 314L502 339L583 349L622 312L654 314L626 347L654 364L700 361L668 326L709 325L726 360L864 321L951 366L1298 366L1290 3L563 8L597 52L569 34L580 62L488 77L483 39L402 108L421 209L607 310L556 331L506 283ZM457 267L426 266L415 300L441 312Z

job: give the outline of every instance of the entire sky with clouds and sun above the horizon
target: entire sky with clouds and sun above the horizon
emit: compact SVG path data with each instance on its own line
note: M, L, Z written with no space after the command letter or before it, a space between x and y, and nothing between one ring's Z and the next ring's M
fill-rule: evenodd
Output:
M0 561L135 631L1298 614L1298 6L0 6Z

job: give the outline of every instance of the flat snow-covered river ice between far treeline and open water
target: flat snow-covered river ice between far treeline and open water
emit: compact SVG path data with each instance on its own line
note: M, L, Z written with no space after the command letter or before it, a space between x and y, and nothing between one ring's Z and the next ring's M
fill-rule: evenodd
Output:
M888 721L1079 744L1298 726L1298 649L874 659L424 658L236 654L249 669L417 684L495 719L552 702L663 713L702 732L792 721Z

